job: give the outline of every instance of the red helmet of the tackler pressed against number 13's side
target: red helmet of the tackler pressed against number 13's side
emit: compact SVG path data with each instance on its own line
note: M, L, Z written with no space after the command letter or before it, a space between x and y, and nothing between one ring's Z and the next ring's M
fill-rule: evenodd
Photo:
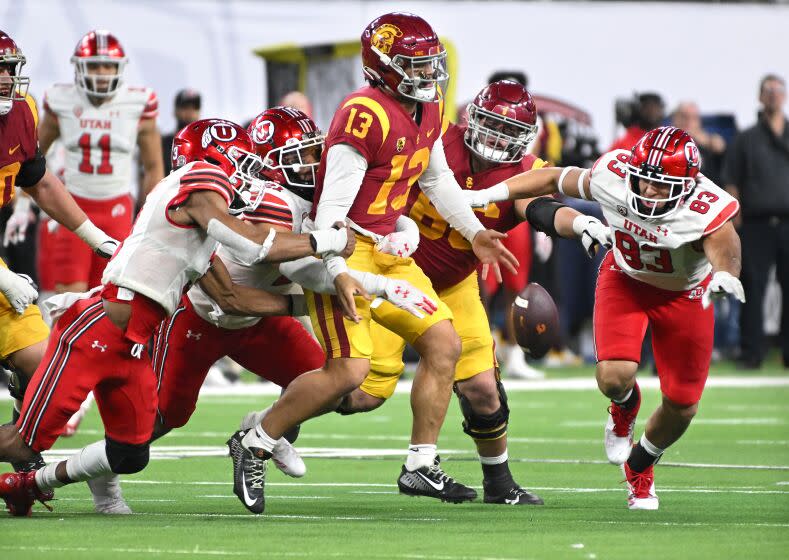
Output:
M247 132L263 160L261 175L312 200L326 138L315 122L298 109L272 107L255 117Z

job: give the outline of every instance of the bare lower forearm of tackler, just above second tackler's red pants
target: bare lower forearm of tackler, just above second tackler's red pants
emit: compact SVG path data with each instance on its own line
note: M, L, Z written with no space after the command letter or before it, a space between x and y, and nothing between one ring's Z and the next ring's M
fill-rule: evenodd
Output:
M226 315L269 317L291 315L293 311L291 296L234 284L219 257L214 257L211 267L200 278L199 284Z

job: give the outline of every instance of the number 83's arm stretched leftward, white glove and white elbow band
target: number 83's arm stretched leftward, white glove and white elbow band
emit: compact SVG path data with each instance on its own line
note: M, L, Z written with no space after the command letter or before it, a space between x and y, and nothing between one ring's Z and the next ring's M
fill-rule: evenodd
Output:
M578 167L543 167L524 171L506 181L479 191L463 191L472 208L484 208L491 202L534 198L562 193L582 198L581 188L589 192L590 173Z

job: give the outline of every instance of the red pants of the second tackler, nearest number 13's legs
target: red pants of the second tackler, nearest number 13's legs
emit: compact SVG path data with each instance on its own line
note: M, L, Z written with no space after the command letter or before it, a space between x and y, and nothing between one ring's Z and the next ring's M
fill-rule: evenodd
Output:
M159 416L167 428L189 421L208 369L224 356L280 387L325 362L320 344L293 317L266 317L251 327L222 329L195 313L184 296L154 338Z

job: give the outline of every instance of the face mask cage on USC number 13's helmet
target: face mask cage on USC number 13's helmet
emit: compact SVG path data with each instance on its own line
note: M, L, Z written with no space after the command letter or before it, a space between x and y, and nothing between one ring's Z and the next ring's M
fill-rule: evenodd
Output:
M398 54L390 60L389 66L401 77L397 92L403 97L420 103L437 103L443 99L449 83L447 53L443 48L439 53L426 56Z

